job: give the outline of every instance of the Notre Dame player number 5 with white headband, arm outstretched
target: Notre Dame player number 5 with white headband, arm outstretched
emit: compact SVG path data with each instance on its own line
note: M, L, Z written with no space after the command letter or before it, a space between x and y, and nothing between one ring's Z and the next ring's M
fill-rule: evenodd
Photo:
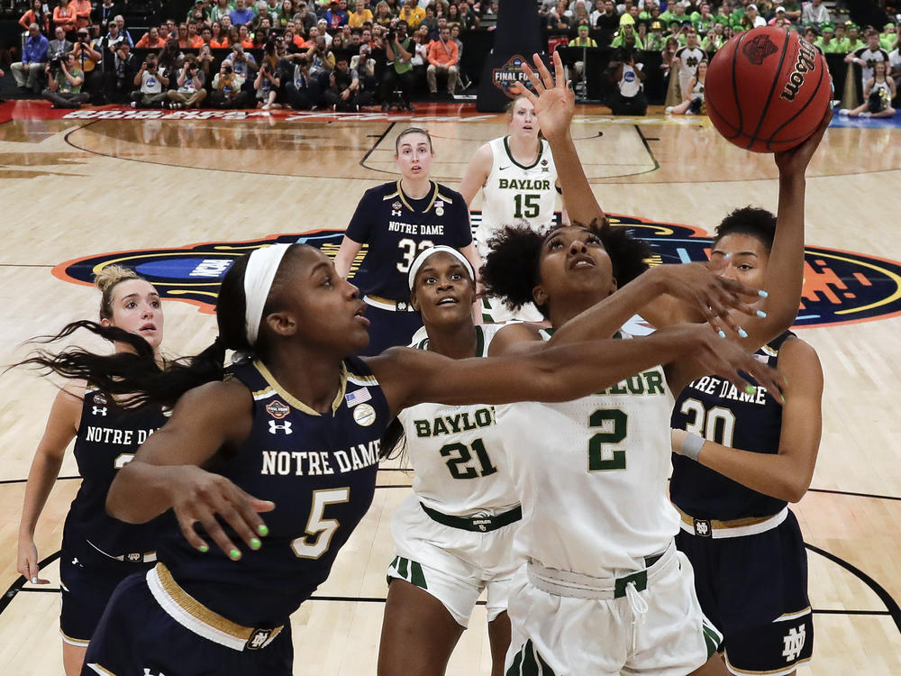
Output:
M115 590L83 674L290 674L283 629L369 508L379 439L404 407L584 396L680 354L705 355L706 370L737 384L744 370L778 390L769 369L689 324L501 359L394 349L361 360L350 355L369 341L365 308L322 251L274 245L226 273L220 333L191 360L161 371L142 339L81 323L130 344L133 359L69 350L36 361L68 378L90 373L134 405L177 402L106 498L116 518L146 523L168 512L168 525L157 566ZM227 349L247 355L228 372Z

